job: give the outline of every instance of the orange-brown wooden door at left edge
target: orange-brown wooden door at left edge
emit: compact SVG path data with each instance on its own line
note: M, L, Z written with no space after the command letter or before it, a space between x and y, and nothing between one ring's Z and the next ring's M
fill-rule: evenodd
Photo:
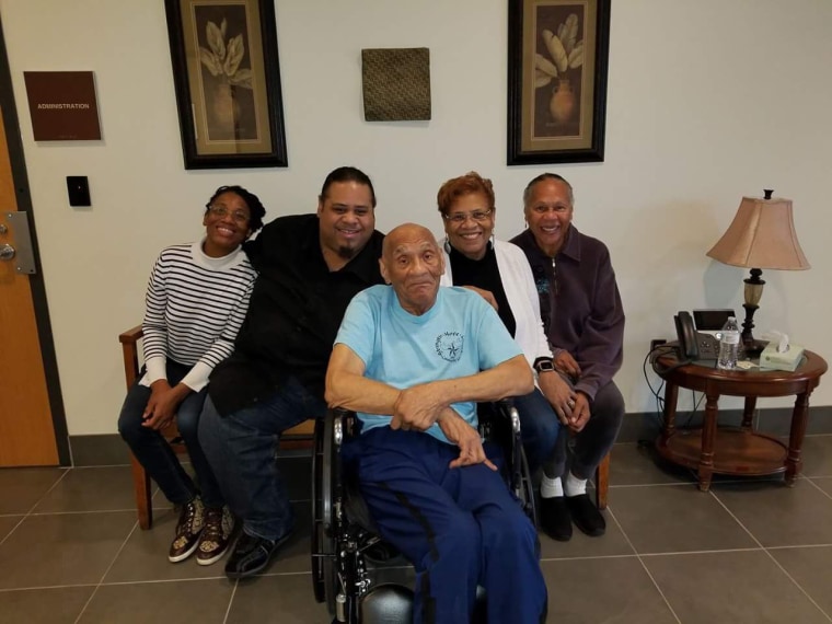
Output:
M20 245L8 217L18 199L2 117L0 106L0 256ZM0 466L59 463L32 279L14 258L0 259Z

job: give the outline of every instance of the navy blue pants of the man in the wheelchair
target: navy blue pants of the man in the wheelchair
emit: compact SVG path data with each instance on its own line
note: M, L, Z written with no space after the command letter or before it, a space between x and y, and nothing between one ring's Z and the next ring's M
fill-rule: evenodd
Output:
M487 446L486 453L499 451ZM344 449L382 538L416 568L414 622L470 622L477 585L488 622L542 622L546 583L534 525L499 473L485 464L449 469L458 455L427 434L389 427Z

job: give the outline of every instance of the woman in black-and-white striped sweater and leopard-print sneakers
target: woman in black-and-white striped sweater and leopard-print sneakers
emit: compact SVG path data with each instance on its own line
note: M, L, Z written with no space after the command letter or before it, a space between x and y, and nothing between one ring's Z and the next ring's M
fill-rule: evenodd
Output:
M118 431L167 499L181 508L169 561L210 565L229 545L233 516L199 446L208 375L231 355L256 273L242 243L263 227L256 195L221 186L206 205L205 238L173 245L150 275L142 322L145 374L128 391ZM196 482L160 430L176 420Z

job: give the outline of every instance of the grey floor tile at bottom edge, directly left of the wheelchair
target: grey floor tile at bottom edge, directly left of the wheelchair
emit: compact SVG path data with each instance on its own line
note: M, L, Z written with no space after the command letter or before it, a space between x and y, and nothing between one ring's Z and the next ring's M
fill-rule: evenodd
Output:
M328 624L326 604L315 602L309 574L266 576L240 582L228 614L228 624Z

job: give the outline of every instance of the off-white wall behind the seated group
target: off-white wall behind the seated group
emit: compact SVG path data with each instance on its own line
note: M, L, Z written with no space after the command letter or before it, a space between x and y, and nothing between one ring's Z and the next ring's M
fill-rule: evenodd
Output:
M505 0L277 0L276 12L290 166L186 172L162 0L0 0L71 435L116 430L116 335L140 320L161 247L200 234L213 188L249 187L268 217L303 212L340 164L373 178L382 231L439 230L437 188L477 170L494 180L501 238L523 227L531 177L567 176L575 222L608 243L619 276L631 412L654 407L642 363L677 310L741 313L747 271L705 252L742 195L774 188L795 203L812 269L764 274L758 328L832 355L832 2L615 0L605 162L517 167L505 155ZM363 122L361 48L417 46L430 48L432 119ZM103 140L34 142L26 70L94 71ZM67 175L89 176L91 209L69 207ZM832 382L812 404L832 404Z

